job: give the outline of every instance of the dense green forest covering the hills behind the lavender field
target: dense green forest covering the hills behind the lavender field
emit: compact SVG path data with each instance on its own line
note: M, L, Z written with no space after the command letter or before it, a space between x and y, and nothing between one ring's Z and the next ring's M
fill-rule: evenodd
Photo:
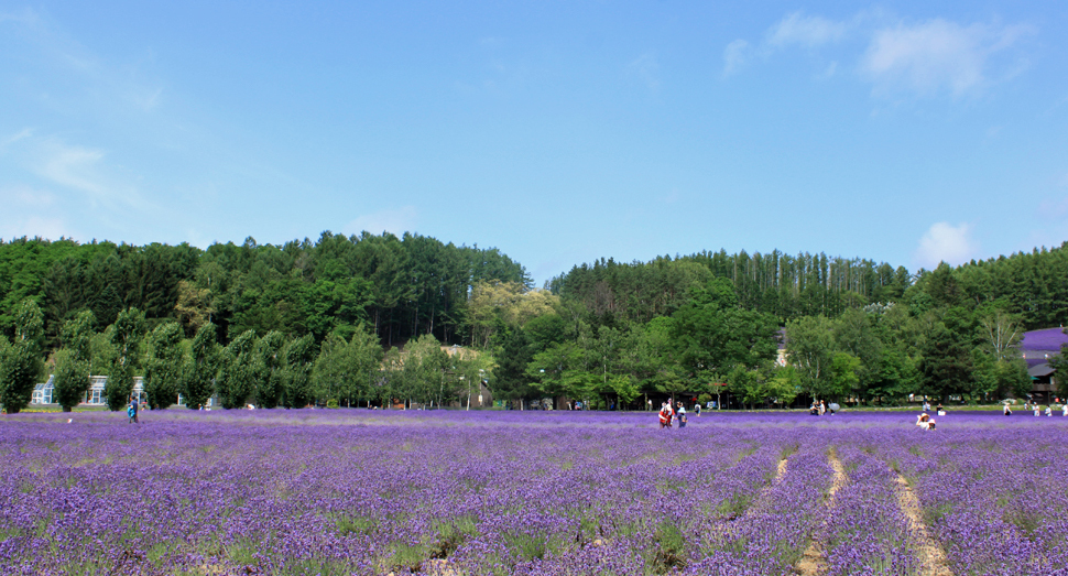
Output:
M0 403L52 376L69 410L90 373L112 409L134 376L153 407L464 405L478 382L521 407L995 401L1029 391L1016 345L1064 325L1065 278L1068 243L915 273L777 250L601 259L537 289L495 248L413 233L19 238L0 241Z

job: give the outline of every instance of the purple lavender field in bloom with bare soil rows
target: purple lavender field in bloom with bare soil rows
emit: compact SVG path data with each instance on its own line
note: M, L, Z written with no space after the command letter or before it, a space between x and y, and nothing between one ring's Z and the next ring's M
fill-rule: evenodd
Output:
M73 417L68 423L67 419ZM1068 419L0 419L3 574L1068 574Z

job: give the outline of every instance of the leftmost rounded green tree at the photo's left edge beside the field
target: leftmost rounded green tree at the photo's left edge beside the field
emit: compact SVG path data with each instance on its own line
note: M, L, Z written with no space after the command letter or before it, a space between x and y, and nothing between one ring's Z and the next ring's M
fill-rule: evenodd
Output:
M44 320L35 302L26 298L19 305L14 327L13 341L0 338L0 404L8 414L18 413L30 403L43 369Z

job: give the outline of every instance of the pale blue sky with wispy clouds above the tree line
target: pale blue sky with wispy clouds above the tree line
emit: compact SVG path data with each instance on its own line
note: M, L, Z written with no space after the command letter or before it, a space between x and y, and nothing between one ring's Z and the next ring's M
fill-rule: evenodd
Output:
M1068 240L1058 3L711 4L0 0L0 237L410 230L538 284Z

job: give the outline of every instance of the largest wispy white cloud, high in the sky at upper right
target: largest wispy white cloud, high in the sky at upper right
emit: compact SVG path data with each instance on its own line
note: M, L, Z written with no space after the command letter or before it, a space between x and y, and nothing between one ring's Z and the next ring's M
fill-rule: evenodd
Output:
M953 96L982 87L988 61L1011 47L1027 26L962 26L941 19L875 31L861 70L876 94L901 90L919 95L948 89Z

